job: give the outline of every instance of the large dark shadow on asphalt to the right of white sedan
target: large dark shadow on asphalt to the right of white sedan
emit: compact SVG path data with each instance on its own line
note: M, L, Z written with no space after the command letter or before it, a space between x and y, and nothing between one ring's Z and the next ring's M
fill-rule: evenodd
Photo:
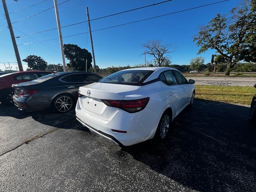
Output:
M256 127L249 108L195 100L172 124L166 140L120 150L152 170L193 190L253 191L256 186Z

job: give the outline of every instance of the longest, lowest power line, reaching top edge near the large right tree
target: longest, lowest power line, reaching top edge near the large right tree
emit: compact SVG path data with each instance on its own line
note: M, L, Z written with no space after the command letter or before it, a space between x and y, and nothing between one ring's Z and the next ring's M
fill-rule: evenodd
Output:
M137 22L141 22L141 21L145 21L145 20L154 19L154 18L159 18L159 17L163 17L163 16L167 16L167 15L171 15L171 14L176 14L176 13L180 13L180 12L185 12L185 11L189 11L189 10L193 10L193 9L198 9L198 8L202 8L202 7L206 7L206 6L210 6L210 5L226 2L226 1L229 1L229 0L223 0L223 1L215 2L215 3L210 3L210 4L206 4L206 5L202 5L202 6L197 6L197 7L193 7L193 8L189 8L189 9L184 9L184 10L180 10L180 11L176 11L176 12L172 12L172 13L168 13L168 14L163 14L163 15L159 15L159 16L155 16L155 17L150 17L150 18L146 18L146 19L142 19L142 20L137 20L137 21L132 21L132 22L128 22L128 23L124 23L124 24L119 24L119 25L115 25L115 26L110 26L110 27L106 27L106 28L96 29L96 30L92 30L92 32L100 31L100 30L105 30L105 29L110 29L110 28L114 28L114 27L119 27L119 26L123 26L123 25L128 25L128 24L132 24L132 23L137 23ZM64 36L63 38L71 37L71 36L76 36L76 35L81 35L81 34L86 34L86 33L88 33L88 32L83 32L83 33L73 34L73 35L69 35L69 36ZM45 41L56 40L56 39L58 39L58 38L43 40L43 41L39 41L39 42L45 42ZM27 44L33 44L33 43L35 43L35 42L19 44L18 46L20 46L20 45L27 45Z

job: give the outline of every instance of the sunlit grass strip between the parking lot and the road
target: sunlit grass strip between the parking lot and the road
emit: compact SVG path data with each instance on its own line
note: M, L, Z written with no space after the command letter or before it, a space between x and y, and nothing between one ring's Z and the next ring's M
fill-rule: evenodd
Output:
M256 93L254 87L195 85L198 99L250 105Z

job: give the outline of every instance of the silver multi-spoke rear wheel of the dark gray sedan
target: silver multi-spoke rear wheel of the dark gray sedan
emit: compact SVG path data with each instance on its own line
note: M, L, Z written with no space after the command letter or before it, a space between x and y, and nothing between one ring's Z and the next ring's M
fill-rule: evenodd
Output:
M56 112L59 113L66 113L70 111L73 107L73 99L68 94L63 94L60 96L57 96L53 101L53 109Z

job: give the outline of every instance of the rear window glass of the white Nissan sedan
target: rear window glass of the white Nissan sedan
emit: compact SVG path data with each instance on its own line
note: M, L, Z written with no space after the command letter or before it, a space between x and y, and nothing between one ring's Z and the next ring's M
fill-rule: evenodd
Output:
M123 70L111 74L103 79L100 83L124 84L140 86L154 71L150 70Z

